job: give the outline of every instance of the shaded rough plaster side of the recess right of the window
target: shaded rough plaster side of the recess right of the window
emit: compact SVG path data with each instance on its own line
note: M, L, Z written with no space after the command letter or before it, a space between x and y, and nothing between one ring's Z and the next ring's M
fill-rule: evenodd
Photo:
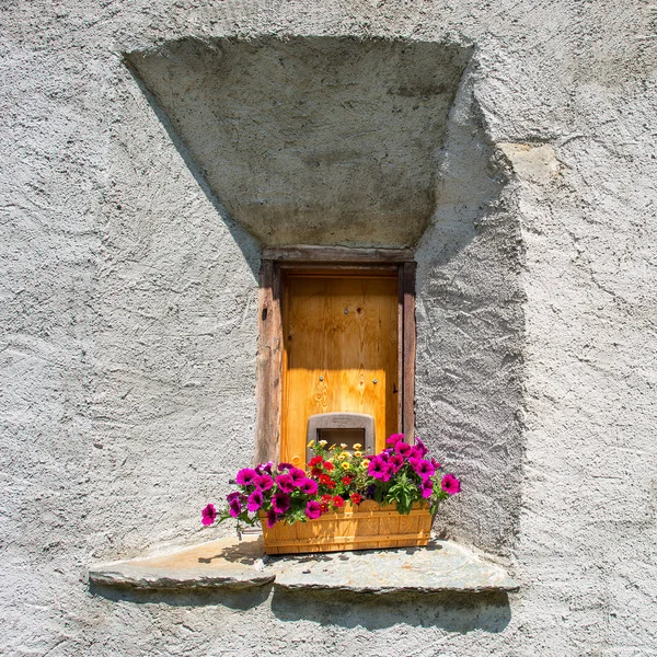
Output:
M417 250L416 433L461 479L442 537L510 555L523 459L525 295L517 211L465 71L452 105L431 224Z

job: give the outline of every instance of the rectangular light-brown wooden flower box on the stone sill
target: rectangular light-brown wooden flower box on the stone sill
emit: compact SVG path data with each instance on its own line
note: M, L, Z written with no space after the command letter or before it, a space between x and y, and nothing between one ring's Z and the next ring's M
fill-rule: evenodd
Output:
M336 512L308 522L277 522L268 528L266 515L261 511L260 518L267 554L426 545L433 520L428 505L415 503L406 516L371 499L359 505L347 502Z

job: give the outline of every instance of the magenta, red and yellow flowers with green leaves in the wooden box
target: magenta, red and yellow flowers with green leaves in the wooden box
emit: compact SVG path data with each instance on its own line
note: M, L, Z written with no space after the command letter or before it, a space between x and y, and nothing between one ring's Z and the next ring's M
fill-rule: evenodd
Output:
M241 522L255 525L261 511L266 512L268 527L278 521L292 525L335 511L346 500L358 505L364 499L396 504L400 514L408 514L415 502L422 502L433 514L440 500L461 491L459 480L442 474L442 466L428 458L419 439L408 445L403 434L394 434L387 440L389 447L376 456L364 454L360 445L354 446L354 453L346 451L346 445L326 445L325 440L308 445L314 452L308 472L293 463L274 468L272 462L240 470L239 489L227 496L220 511L208 504L201 511L203 525L233 518L239 531Z

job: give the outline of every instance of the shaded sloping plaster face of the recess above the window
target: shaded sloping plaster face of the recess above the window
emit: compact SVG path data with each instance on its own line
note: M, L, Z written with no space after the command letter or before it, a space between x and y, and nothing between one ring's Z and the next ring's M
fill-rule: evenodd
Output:
M129 55L231 217L268 245L406 246L472 49L355 37Z

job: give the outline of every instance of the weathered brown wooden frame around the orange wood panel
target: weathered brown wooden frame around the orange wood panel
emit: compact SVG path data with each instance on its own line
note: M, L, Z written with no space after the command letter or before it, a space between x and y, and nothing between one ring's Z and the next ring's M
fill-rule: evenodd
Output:
M415 439L415 268L408 249L288 246L263 250L258 290L255 462L278 462L283 405L283 274L286 269L396 268L399 276L399 431Z

